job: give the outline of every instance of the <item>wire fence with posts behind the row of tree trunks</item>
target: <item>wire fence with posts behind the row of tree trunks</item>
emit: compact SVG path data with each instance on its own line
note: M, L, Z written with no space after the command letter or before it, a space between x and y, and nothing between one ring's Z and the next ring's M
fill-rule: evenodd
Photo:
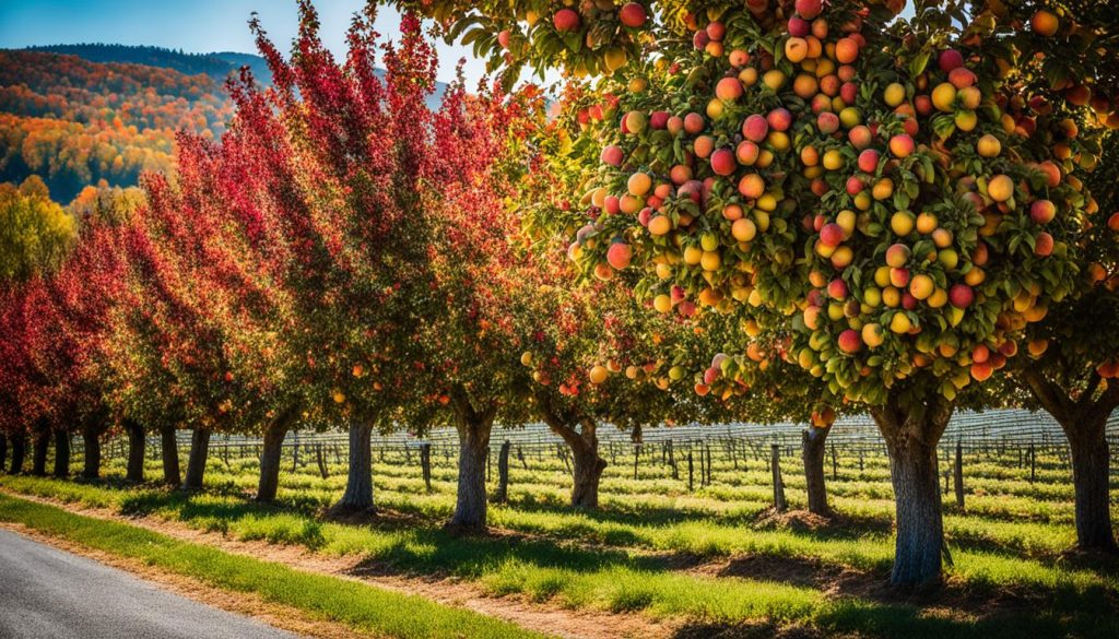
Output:
M639 438L628 430L609 425L599 429L599 454L612 466L619 463L640 464L643 458L667 460L680 455L686 459L692 453L706 455L713 452L721 459L728 459L735 467L739 460L767 461L775 445L781 457L799 457L801 432L805 425L798 423L753 424L681 424L643 429ZM190 444L190 432L178 433L180 449ZM1112 457L1119 450L1119 412L1108 422L1107 438ZM81 453L81 440L75 441ZM521 464L543 461L545 458L560 459L570 464L570 451L563 440L544 424L523 426L496 426L491 435L491 448L509 442L514 459ZM370 441L374 460L412 463L421 454L429 454L436 462L453 463L458 458L458 433L454 429L434 429L424 436L408 433L374 434ZM831 426L828 447L833 462L835 458L864 459L884 458L885 443L869 416L843 419ZM1032 413L1021 410L988 411L984 413L959 412L944 432L940 443L940 458L951 459L957 448L968 457L991 459L993 457L1036 459L1037 455L1056 458L1062 466L1069 464L1069 445L1060 424L1047 413ZM258 458L263 440L254 436L215 434L209 443L210 455L225 460ZM426 449L424 451L424 449ZM312 459L322 463L342 463L348 458L348 434L346 432L308 433L293 431L283 442L283 455L297 466L305 466ZM422 452L423 451L423 452ZM123 439L110 442L104 450L106 457L126 455ZM159 441L151 439L148 454L158 458ZM674 461L675 463L675 461ZM1119 466L1119 464L1113 464ZM1116 469L1119 471L1119 468Z

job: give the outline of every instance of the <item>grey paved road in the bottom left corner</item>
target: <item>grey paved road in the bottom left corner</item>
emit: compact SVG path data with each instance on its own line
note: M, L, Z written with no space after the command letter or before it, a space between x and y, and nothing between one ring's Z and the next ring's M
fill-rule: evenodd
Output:
M0 529L0 638L294 639Z

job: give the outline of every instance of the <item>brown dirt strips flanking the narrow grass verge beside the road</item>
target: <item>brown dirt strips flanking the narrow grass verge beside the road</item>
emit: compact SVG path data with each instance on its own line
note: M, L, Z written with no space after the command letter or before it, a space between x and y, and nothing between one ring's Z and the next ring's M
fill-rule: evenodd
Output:
M502 596L492 598L486 596L485 592L476 584L469 582L463 582L453 579L423 579L423 577L404 577L396 575L385 575L376 574L370 571L369 566L363 566L364 560L361 557L355 556L328 556L319 553L311 552L302 546L285 546L279 544L271 544L269 542L243 542L237 539L231 539L223 536L220 533L207 533L204 530L197 530L190 528L189 526L176 521L167 521L163 519L158 519L154 517L126 517L112 510L104 508L90 508L78 504L66 504L60 500L49 499L44 497L37 497L31 495L23 495L21 492L12 491L7 488L0 489L0 491L17 497L19 499L27 499L29 501L36 501L39 504L46 504L49 506L55 506L63 508L69 513L75 513L78 515L84 515L87 517L93 517L97 519L105 519L112 521L120 521L129 524L132 526L139 526L141 528L147 528L157 533L161 533L169 537L180 539L184 542L191 542L197 544L203 544L206 546L220 548L227 553L251 556L257 560L266 562L278 562L285 564L288 566L299 568L307 572L329 574L340 579L348 579L354 581L359 581L367 585L373 585L376 588L382 588L385 590L392 590L396 592L407 593L407 594L419 594L432 601L443 603L446 605L453 605L457 608L464 608L467 610L472 610L481 614L488 614L498 619L502 619L521 628L529 630L536 630L538 632L558 635L564 638L570 639L614 639L614 638L634 638L634 639L661 639L668 638L676 633L679 629L679 622L673 621L655 621L642 617L640 614L626 614L626 613L604 613L590 610L570 610L560 608L556 605L538 604L534 602L526 601L520 596ZM43 537L39 535L38 537ZM140 570L133 570L129 567L130 562L119 561L119 563L113 563L111 561L103 560L100 556L93 556L88 551L81 552L66 546L60 545L56 541L50 538L44 539L51 545L57 547L63 547L64 549L74 552L75 554L82 554L95 558L97 561L104 561L110 565L115 565L117 567L128 570L130 572L148 576L144 572ZM73 545L73 544L70 544ZM104 553L97 553L104 555ZM138 566L145 571L152 571L150 566ZM167 575L163 575L164 577ZM192 580L185 580L184 577L175 577L177 580L182 580L191 582L191 588L200 586ZM152 581L158 581L152 579ZM210 589L214 590L214 589ZM226 591L216 591L216 593L222 593L222 596L227 596ZM215 594L216 594L215 593ZM182 593L190 596L189 593ZM345 630L342 635L330 635L330 633L318 633L314 628L309 628L309 630L298 630L294 628L288 628L284 626L279 626L271 621L272 614L267 617L254 614L251 610L256 607L269 607L272 604L263 602L260 598L252 595L245 595L246 599L255 601L245 601L244 605L239 605L236 609L225 608L234 612L239 612L242 614L253 614L262 621L272 623L274 626L284 628L286 630L292 630L295 632L301 632L311 637L347 637L352 636L352 632ZM198 599L198 598L194 598ZM199 599L206 603L214 603L207 599ZM284 608L284 607L274 607ZM246 612L246 609L250 610ZM289 614L284 612L279 617ZM337 624L335 624L337 626ZM340 627L344 628L344 627ZM321 629L327 632L328 628Z

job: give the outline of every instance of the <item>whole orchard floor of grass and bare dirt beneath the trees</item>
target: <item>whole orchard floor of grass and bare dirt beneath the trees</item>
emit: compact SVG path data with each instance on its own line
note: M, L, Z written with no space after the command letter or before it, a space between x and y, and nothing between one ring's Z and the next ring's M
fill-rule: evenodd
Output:
M742 440L732 454L717 426L706 430L713 439L692 445L690 491L685 441L675 440L674 478L667 431L648 431L636 458L633 444L622 440L628 435L611 433L602 448L612 462L602 508L593 513L566 506L570 473L545 431L497 432L491 492L500 441L508 434L517 442L509 501L491 505L492 528L482 536L442 528L454 507L457 477L455 455L442 444L432 453L431 491L416 450L375 445L378 514L345 521L322 515L345 488L345 447L340 458L332 444L325 447L323 479L316 440L305 438L298 463L293 449L285 452L275 506L252 501L255 449L226 451L218 438L203 492L128 485L119 455L109 460L104 480L3 476L0 489L234 553L410 590L549 635L1119 636L1119 565L1069 552L1075 543L1073 492L1060 440L1043 441L1040 431L996 431L965 439L965 509L944 496L946 584L918 591L887 586L893 499L881 443L864 445L839 432L835 464L830 450L827 463L837 511L831 520L773 513L769 440ZM802 508L799 451L782 449L788 500ZM711 450L706 485L700 450ZM942 479L951 468L946 457L942 451ZM157 461L149 461L148 476L159 476ZM0 501L0 520L18 519L17 502Z

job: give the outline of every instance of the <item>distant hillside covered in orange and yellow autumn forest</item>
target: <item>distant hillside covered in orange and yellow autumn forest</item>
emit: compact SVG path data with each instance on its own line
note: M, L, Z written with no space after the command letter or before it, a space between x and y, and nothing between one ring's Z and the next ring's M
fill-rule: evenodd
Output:
M38 175L60 201L101 179L134 185L171 169L176 131L215 138L231 113L209 75L0 51L0 181Z

